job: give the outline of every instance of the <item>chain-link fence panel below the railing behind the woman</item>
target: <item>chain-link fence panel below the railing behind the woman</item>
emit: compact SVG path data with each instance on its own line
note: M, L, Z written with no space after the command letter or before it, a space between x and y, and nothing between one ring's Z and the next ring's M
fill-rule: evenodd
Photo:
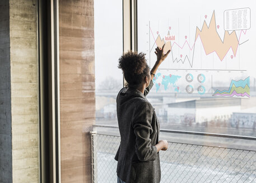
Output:
M119 136L91 134L94 182L117 182ZM256 151L169 142L161 182L256 182Z

